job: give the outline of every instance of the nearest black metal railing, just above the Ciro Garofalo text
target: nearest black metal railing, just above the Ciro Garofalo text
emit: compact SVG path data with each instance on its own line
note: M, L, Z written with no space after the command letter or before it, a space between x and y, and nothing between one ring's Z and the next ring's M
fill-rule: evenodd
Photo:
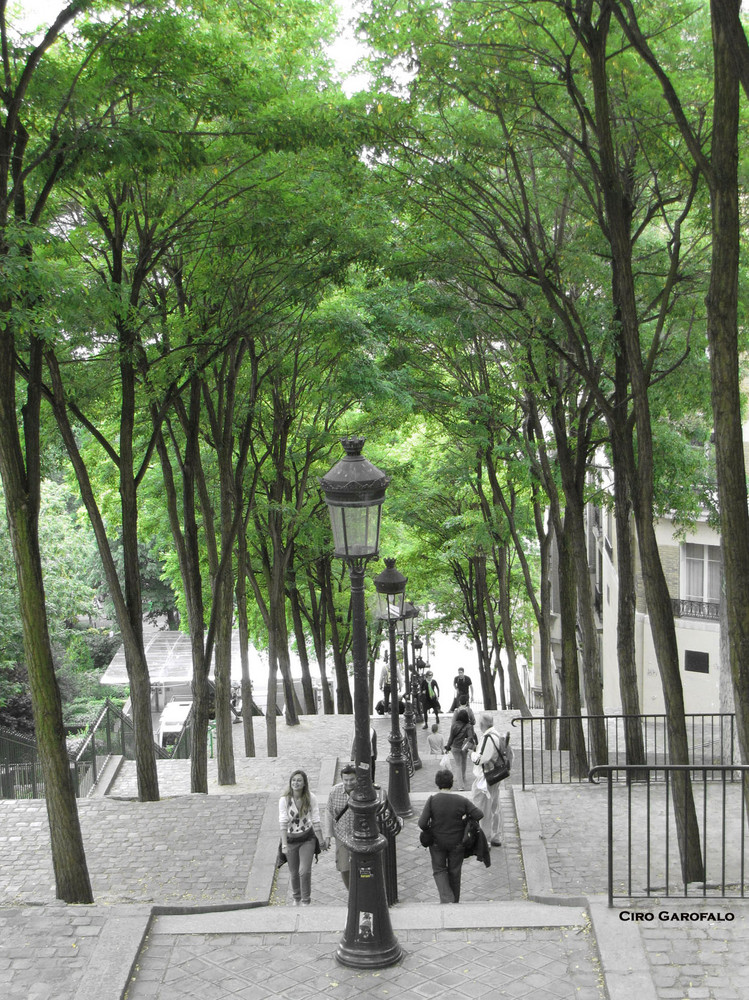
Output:
M648 772L639 781L617 772ZM682 868L677 817L672 803L675 776L688 773L697 813L703 876L689 881ZM626 777L626 775L625 775ZM744 899L747 886L747 788L749 766L700 768L689 764L594 767L590 780L605 779L608 794L608 896L616 899ZM657 779L657 780L656 780ZM739 779L739 780L735 780ZM687 827L686 822L683 823ZM688 838L687 838L688 839Z

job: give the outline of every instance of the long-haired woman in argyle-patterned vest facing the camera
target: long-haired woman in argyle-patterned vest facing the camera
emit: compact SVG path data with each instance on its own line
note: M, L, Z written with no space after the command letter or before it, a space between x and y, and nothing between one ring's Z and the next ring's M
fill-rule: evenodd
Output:
M289 864L294 906L309 906L312 860L318 851L327 851L328 842L322 834L317 798L309 790L304 771L292 771L289 787L278 800L278 822L281 850Z

